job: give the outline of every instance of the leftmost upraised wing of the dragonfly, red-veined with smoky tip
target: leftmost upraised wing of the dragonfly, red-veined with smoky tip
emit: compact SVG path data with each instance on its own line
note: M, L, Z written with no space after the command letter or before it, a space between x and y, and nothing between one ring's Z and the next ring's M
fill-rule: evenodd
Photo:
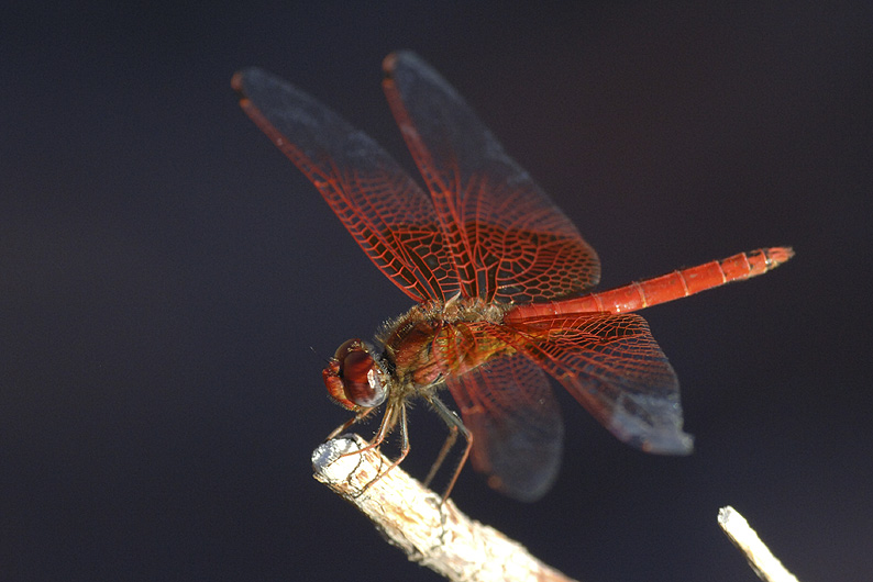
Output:
M432 202L378 144L269 72L245 69L232 82L243 110L397 287L416 301L457 292Z

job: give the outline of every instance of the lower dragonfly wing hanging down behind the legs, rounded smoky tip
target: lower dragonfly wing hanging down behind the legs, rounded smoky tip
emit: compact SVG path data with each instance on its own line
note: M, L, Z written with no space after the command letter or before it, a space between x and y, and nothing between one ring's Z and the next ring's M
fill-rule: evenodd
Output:
M510 497L542 497L557 477L564 438L561 411L542 370L517 354L445 383L473 434L473 467Z

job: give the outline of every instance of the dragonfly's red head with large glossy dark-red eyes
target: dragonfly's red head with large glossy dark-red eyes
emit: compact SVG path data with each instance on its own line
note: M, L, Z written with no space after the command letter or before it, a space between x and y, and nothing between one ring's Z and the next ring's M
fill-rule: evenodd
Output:
M331 399L350 411L373 408L388 395L388 374L361 339L340 346L322 377Z

